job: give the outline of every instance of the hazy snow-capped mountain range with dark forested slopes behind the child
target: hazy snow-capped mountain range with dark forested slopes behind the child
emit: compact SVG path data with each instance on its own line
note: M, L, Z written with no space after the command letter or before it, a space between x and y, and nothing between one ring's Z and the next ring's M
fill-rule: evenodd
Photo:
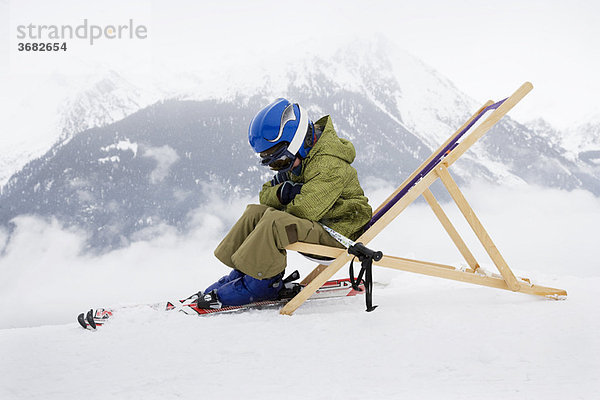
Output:
M86 227L97 249L152 236L162 224L185 230L190 211L211 193L257 194L269 173L257 166L247 126L281 96L305 105L313 119L332 115L338 133L356 146L365 185L373 178L399 184L480 106L382 40L220 74L186 78L176 98L147 107L148 93L164 91L142 91L116 74L73 98L64 121L69 140L11 178L0 197L0 224L20 214L56 216ZM228 85L217 96L211 81ZM569 158L552 139L559 135L540 126L503 119L457 162L458 179L600 194L600 175Z

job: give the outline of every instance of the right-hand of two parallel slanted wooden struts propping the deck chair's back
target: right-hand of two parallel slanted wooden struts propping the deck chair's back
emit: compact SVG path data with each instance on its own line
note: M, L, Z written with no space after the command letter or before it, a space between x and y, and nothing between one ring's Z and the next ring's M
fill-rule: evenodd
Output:
M448 189L448 192L450 193L450 196L452 196L452 199L458 206L458 209L464 215L467 222L473 229L473 232L475 232L475 235L485 248L485 251L488 253L490 258L498 268L498 271L500 271L500 274L506 280L506 284L508 285L508 287L511 290L518 291L520 289L520 286L517 282L517 278L508 267L508 264L502 257L502 254L500 254L500 251L492 241L490 235L483 227L481 221L479 220L479 218L477 218L477 215L475 215L475 211L473 211L473 209L467 202L467 199L465 199L465 196L458 188L458 185L456 184L456 182L454 182L452 176L450 176L450 173L448 172L446 166L444 164L438 165L435 168L435 171L442 180L444 186L446 186L446 189Z

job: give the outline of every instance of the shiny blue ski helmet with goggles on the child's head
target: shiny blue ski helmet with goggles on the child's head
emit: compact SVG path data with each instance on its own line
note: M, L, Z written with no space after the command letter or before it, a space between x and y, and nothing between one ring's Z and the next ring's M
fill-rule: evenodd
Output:
M276 171L290 170L296 156L305 158L314 143L305 138L313 136L314 124L306 111L283 98L260 110L248 128L248 141L261 164Z

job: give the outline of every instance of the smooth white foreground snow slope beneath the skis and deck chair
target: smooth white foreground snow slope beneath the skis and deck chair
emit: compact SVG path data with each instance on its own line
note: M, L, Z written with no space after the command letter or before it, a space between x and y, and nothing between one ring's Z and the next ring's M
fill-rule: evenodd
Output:
M3 399L593 399L600 393L595 278L554 280L555 302L395 278L362 299L193 318L124 312L0 331Z

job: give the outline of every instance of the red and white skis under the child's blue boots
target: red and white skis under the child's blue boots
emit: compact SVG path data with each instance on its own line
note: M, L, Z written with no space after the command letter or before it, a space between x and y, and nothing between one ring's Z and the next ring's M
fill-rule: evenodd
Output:
M229 306L223 308L205 309L198 308L196 300L197 294L194 294L183 300L166 301L154 304L139 304L135 306L123 306L118 308L96 308L90 309L87 313L81 313L77 316L77 322L83 328L88 330L96 330L98 327L104 325L106 321L113 317L119 310L134 307L151 307L157 311L180 311L188 315L206 316L223 313L236 313L247 310L261 310L267 308L278 308L282 307L285 303L290 301L295 294L297 294L304 286L300 284L294 284L294 289L288 291L285 298L278 300L267 300L259 301L255 303L245 304L242 306ZM350 279L336 279L327 281L321 286L308 300L318 299L331 299L340 297L356 296L357 294L364 293L364 283L361 282L359 290L352 287Z

